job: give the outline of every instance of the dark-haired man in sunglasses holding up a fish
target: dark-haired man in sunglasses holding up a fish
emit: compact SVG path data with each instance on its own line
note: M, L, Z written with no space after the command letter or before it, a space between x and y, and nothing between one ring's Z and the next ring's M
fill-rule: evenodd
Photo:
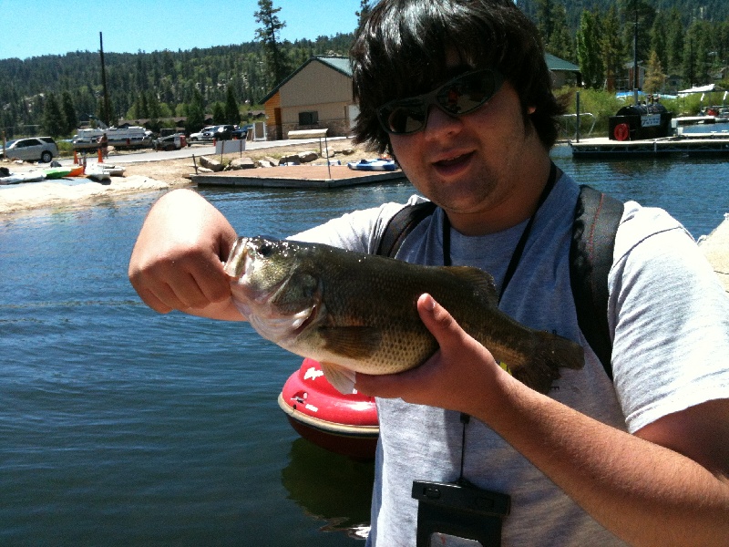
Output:
M511 0L385 0L352 51L355 132L438 205L398 258L483 268L508 315L587 346L569 272L579 188L549 160L561 110L537 36ZM400 207L293 238L374 253ZM235 237L210 203L171 192L139 233L132 284L159 312L240 320L221 267ZM510 496L504 545L727 544L729 302L681 225L634 202L609 281L614 383L588 346L549 396L421 296L436 355L357 375L381 426L370 544L415 545L413 482L459 478Z

